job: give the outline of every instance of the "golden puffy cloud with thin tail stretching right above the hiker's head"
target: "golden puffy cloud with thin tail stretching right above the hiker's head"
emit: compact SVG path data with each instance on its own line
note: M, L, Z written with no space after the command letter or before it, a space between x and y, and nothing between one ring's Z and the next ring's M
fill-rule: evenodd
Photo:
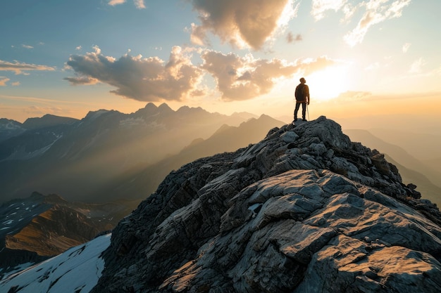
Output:
M233 53L225 55L209 50L204 51L201 58L204 60L201 68L216 79L223 100L255 98L269 93L278 79L290 78L297 72L307 75L335 64L325 57L287 64L279 59L254 59L250 54L240 58Z

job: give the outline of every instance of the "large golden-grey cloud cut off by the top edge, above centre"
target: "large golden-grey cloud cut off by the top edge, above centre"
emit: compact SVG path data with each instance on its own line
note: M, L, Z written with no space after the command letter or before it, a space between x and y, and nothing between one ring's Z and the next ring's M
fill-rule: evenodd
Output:
M192 24L194 44L209 44L207 34L243 48L259 49L294 15L295 0L192 0L201 25Z

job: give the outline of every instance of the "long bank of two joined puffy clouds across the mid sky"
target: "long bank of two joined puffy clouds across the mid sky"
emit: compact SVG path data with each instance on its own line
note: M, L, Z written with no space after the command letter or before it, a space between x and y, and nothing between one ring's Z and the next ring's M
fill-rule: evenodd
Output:
M194 65L194 53L198 52L175 46L168 61L128 54L116 59L104 56L95 47L94 52L70 56L67 67L74 70L75 77L65 80L73 85L108 84L116 88L111 93L144 102L184 101L206 96L202 79L210 74L222 100L249 100L269 93L279 79L290 79L293 74L310 74L336 63L326 57L287 63L280 59L255 59L251 54L240 57L206 49L199 51L202 63Z

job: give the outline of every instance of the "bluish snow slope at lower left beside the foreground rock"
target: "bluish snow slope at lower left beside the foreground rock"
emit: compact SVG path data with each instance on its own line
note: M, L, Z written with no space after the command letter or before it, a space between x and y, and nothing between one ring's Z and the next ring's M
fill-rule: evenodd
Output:
M0 281L0 292L90 292L101 277L104 269L101 253L110 242L110 233L102 235L35 266L8 275Z

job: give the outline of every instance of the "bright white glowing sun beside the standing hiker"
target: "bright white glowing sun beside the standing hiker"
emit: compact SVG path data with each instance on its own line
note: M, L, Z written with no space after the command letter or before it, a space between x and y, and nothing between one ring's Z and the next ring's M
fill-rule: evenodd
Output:
M330 100L349 89L346 66L332 66L305 77L311 100Z

